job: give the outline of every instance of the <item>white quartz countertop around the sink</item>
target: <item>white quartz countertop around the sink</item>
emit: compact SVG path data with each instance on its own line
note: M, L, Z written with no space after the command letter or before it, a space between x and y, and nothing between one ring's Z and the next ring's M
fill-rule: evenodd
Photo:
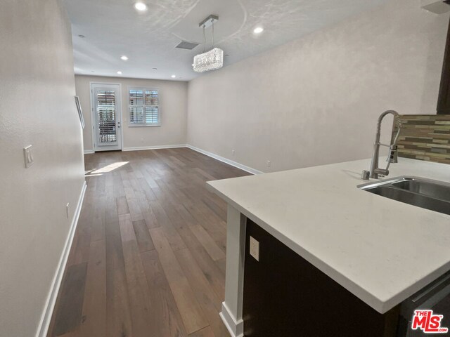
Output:
M207 184L384 313L450 270L450 216L360 190L369 164L365 159ZM450 166L399 158L387 178L397 176L450 182Z

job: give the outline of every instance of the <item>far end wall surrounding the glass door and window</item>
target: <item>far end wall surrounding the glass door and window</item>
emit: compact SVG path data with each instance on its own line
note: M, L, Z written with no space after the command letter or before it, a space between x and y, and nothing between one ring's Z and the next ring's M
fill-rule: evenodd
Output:
M188 84L183 81L128 79L122 77L75 76L77 95L82 105L84 121L84 150L92 150L90 82L122 84L122 147L151 147L186 144L186 115ZM128 87L143 86L160 89L161 126L128 126Z

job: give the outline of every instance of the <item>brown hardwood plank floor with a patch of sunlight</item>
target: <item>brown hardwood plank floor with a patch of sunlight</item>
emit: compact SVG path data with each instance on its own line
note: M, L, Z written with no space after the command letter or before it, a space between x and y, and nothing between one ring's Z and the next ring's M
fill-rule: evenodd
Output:
M87 190L48 336L229 336L226 204L249 173L187 148L87 154Z

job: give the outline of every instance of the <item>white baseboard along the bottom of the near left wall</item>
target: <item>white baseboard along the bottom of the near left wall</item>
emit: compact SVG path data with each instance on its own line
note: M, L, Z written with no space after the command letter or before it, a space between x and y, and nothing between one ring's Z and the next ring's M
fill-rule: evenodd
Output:
M53 315L53 308L55 308L56 298L58 297L58 291L63 280L65 265L68 262L70 247L72 246L75 230L77 229L79 213L82 210L86 187L87 185L85 181L82 187L82 192L79 194L77 208L75 209L75 214L72 218L72 223L70 224L68 238L65 240L63 253L61 254L58 264L58 269L56 270L55 276L53 277L53 282L51 283L49 296L47 297L46 304L44 306L44 312L42 312L41 322L39 323L39 326L37 328L36 337L46 337L47 332L49 331L51 315Z

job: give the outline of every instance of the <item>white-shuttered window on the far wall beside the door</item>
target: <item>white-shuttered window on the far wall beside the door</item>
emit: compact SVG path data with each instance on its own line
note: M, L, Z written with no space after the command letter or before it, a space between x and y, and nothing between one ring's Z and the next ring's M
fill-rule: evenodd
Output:
M129 126L160 126L158 89L129 88Z

